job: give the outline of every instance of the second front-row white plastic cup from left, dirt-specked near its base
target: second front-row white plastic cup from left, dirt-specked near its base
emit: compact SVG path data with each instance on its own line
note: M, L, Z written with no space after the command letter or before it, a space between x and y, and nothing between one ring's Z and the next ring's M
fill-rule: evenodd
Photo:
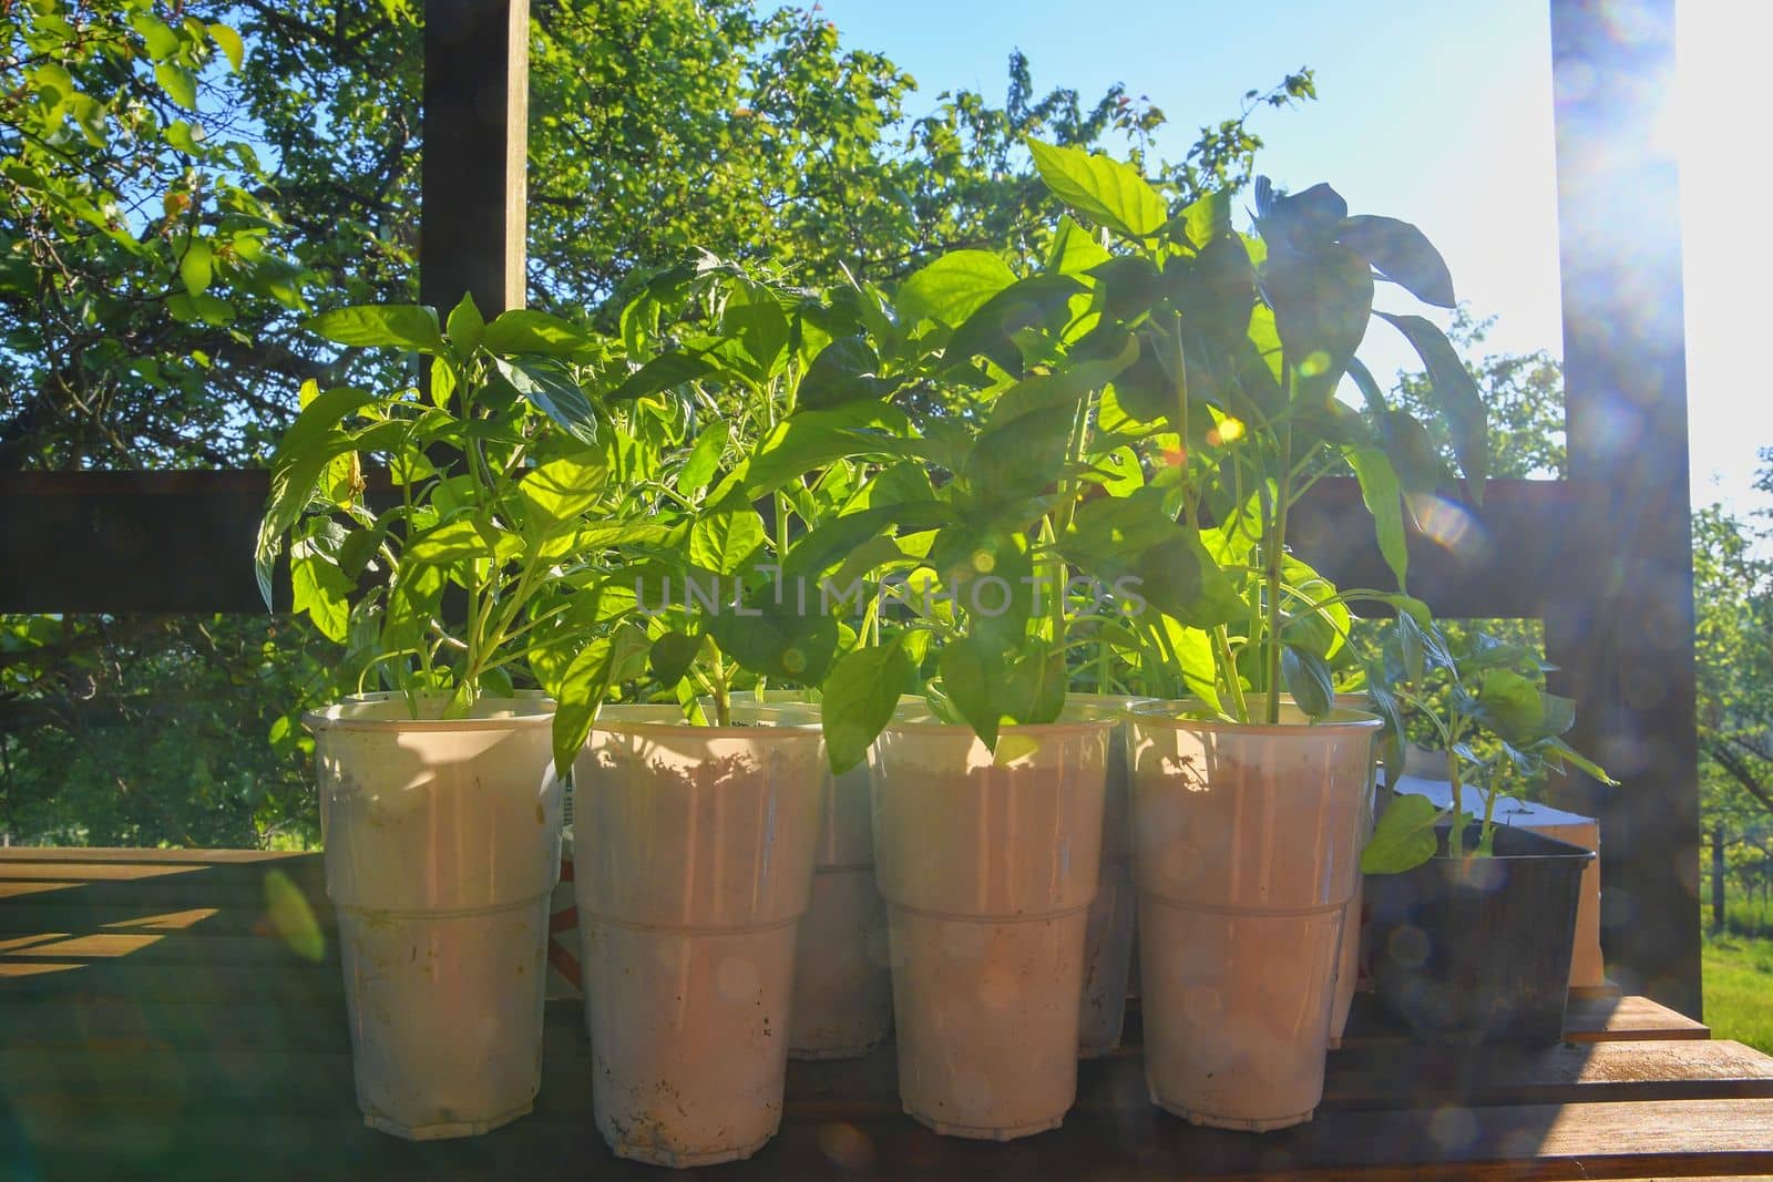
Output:
M750 721L606 707L573 769L592 1109L635 1161L750 1157L782 1122L824 744Z

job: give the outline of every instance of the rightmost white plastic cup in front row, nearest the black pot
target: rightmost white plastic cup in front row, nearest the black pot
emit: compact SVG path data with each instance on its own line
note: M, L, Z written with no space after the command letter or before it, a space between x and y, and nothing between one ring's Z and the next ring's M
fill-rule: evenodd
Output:
M1160 712L1161 711L1161 712ZM1323 1099L1333 984L1379 719L1133 714L1145 1083L1223 1129L1284 1129Z

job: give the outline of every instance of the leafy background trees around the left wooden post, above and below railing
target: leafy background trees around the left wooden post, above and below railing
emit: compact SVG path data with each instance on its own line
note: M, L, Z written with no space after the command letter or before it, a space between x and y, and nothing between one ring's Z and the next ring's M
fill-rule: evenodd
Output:
M530 298L606 328L691 246L803 282L894 278L961 243L1037 253L1051 211L1023 138L1140 149L1163 122L1121 87L1037 94L1019 55L1004 106L963 90L913 119L885 57L746 0L532 12ZM418 19L408 0L0 7L0 466L252 466L303 379L392 379L296 321L417 294ZM1250 117L1312 92L1308 71L1252 90L1149 167L1246 177ZM269 618L0 620L0 824L300 836L294 711L328 680L310 640Z

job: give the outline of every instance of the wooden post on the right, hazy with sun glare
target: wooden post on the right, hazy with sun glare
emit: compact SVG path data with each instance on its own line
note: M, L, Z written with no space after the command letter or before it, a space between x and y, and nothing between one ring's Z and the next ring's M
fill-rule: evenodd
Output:
M1601 820L1608 973L1700 1014L1699 750L1674 0L1551 0L1573 516L1546 645ZM1576 778L1573 778L1576 780Z

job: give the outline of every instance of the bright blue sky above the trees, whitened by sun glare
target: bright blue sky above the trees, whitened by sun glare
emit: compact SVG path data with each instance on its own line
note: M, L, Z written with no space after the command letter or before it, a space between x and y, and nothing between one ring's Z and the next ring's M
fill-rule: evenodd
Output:
M1459 298L1498 317L1486 347L1562 354L1546 0L823 0L819 9L847 44L885 51L918 80L911 113L957 87L1002 101L1005 62L1019 48L1041 92L1066 85L1090 99L1121 82L1147 96L1168 115L1158 135L1168 158L1200 124L1236 113L1245 90L1310 66L1317 101L1252 124L1268 142L1262 170L1294 190L1328 181L1356 213L1415 222L1447 257ZM1766 337L1755 315L1766 298L1750 298L1746 282L1773 275L1773 250L1725 218L1745 193L1766 191L1766 165L1738 136L1739 121L1764 106L1769 11L1759 0L1681 0L1681 80L1668 96L1683 152L1693 498L1743 510L1773 507L1750 493L1755 448L1773 445L1773 397L1764 363L1745 349ZM1376 370L1410 363L1383 330L1369 342Z

